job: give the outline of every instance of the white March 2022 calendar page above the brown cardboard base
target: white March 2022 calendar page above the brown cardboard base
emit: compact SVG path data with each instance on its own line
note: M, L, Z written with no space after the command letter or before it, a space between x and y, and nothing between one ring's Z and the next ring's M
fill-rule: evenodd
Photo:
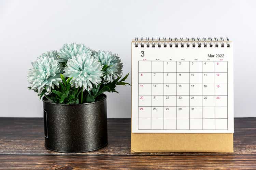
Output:
M233 133L232 43L159 45L132 42L132 133Z

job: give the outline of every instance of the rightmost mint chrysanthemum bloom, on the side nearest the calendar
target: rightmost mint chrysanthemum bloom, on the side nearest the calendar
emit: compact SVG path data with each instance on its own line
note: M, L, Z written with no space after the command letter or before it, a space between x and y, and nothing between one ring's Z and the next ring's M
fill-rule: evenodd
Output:
M123 63L121 63L121 60L117 55L112 54L109 51L99 51L94 53L94 57L98 58L102 66L110 66L105 70L105 81L113 81L115 77L122 74Z

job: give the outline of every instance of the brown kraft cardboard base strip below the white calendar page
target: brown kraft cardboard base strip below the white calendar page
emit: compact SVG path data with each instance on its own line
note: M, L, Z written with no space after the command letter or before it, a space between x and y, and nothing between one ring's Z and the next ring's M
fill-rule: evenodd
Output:
M131 152L233 151L233 133L131 133Z

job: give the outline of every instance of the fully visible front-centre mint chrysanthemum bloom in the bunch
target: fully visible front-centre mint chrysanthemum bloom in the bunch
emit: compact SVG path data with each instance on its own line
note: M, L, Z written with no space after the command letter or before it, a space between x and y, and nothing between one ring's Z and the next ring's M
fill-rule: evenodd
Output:
M65 77L72 77L71 86L83 87L89 91L93 84L98 85L103 76L102 66L98 60L88 54L73 56L65 67Z

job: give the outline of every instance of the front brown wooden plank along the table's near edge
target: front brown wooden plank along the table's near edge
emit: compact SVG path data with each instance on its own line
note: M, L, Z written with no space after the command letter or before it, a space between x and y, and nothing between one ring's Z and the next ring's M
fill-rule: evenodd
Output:
M0 169L256 169L255 155L4 155Z

